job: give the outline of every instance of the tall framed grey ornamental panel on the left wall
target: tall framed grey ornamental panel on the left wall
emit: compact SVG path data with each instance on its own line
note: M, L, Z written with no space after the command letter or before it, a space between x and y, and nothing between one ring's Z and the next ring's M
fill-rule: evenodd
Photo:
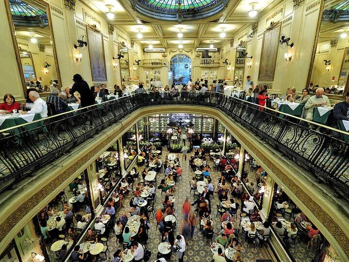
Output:
M103 35L94 26L86 26L92 81L107 81Z

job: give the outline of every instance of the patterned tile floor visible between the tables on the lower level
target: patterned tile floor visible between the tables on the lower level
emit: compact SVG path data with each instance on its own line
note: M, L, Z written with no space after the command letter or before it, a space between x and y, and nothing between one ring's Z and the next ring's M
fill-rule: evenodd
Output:
M163 147L163 152L162 152L162 158L164 159L165 156L167 155L167 149ZM208 157L206 158L208 159ZM190 201L193 201L193 196L190 194L190 185L189 181L191 178L194 176L194 173L189 171L189 163L188 160L184 161L184 159L180 156L179 158L181 167L183 169L183 179L179 180L176 183L176 191L174 193L175 196L175 204L174 208L176 209L175 215L177 217L177 222L176 222L176 230L174 231L174 235L180 233L180 225L181 225L181 209L182 209L182 204L185 200L186 197L190 198ZM208 164L212 167L213 164L212 162L208 161ZM140 170L143 170L143 167L140 167ZM158 182L164 177L163 173L159 173L157 175L158 177ZM220 172L213 171L211 172L211 178L212 181L214 181L214 184L217 184L218 182L218 177L220 176ZM162 209L162 197L161 197L161 192L159 189L156 191L158 199L155 203L154 209L155 212L158 209ZM230 196L230 195L229 195ZM131 196L127 197L127 199L124 200L124 206L126 209L128 208L128 202ZM237 200L238 202L240 200ZM214 226L215 226L215 232L219 232L221 230L220 228L220 216L216 216L217 213L217 208L216 205L219 204L218 197L217 195L214 196L214 199L211 200L211 206L212 206L212 218L215 220L214 221ZM116 217L120 217L122 211L124 209L119 209L117 211ZM238 227L239 225L239 211L238 211L238 219L235 219L234 221L234 227ZM147 244L147 249L152 252L152 257L150 259L151 262L156 260L156 256L158 253L158 246L160 243L160 233L159 230L156 229L156 220L153 217L152 214L150 214L149 217L150 223L151 223L151 229L148 230L148 244ZM184 256L184 261L187 262L210 262L212 260L212 255L213 253L210 251L210 244L206 244L206 239L204 239L204 236L202 233L199 231L199 223L197 221L194 231L194 236L193 239L188 239L186 240L187 247L186 247L186 252ZM243 242L243 238L239 236L239 239ZM109 234L109 240L108 240L108 247L110 250L110 253L108 254L109 257L112 256L112 254L118 249L121 248L120 244L116 243L116 237L113 232L110 232ZM122 248L121 248L122 249ZM241 255L244 259L244 262L254 262L255 259L272 259L272 256L270 255L270 252L266 247L249 247L247 248L247 243L243 242L242 243L242 252ZM170 261L177 261L177 257L173 254L171 257Z

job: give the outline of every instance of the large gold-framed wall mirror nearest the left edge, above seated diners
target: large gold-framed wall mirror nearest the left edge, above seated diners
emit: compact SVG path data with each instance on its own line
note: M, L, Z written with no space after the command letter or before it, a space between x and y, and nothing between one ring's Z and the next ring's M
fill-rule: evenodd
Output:
M50 9L43 0L5 0L24 94L36 82L61 86Z

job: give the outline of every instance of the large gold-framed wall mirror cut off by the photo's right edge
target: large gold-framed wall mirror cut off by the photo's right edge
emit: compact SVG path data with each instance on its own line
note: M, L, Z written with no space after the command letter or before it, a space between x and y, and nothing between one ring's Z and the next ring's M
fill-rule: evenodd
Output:
M308 85L318 85L326 95L341 98L349 84L349 1L325 0L321 10Z

